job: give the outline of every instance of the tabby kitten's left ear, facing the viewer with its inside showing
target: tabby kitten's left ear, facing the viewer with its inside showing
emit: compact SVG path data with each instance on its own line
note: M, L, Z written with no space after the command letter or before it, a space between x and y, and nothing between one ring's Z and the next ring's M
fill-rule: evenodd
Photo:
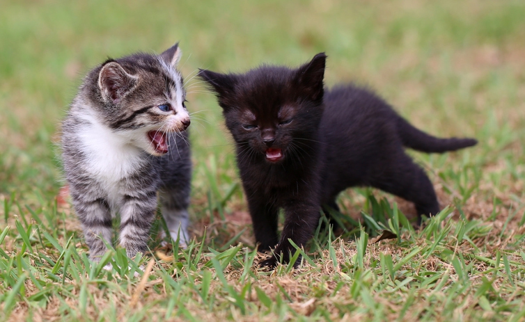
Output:
M116 61L107 61L98 73L98 87L104 101L118 104L135 86L138 77L129 74Z

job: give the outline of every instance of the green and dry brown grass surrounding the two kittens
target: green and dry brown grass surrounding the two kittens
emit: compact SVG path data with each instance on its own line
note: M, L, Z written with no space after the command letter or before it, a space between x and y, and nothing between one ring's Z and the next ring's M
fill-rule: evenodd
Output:
M524 321L523 17L511 0L3 3L0 320ZM193 79L194 241L161 248L157 223L144 257L90 264L56 201L60 120L93 65L178 40L186 79L326 51L328 86L366 84L419 128L480 143L412 154L444 208L423 229L404 200L351 189L346 230L318 230L298 269L260 271L231 140Z

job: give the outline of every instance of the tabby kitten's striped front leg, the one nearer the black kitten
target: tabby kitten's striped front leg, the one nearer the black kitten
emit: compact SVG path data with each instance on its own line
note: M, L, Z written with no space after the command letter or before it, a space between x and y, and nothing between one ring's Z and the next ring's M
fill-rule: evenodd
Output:
M120 207L120 245L126 249L127 257L134 257L137 252L148 250L150 228L157 210L155 190L144 195L126 195Z

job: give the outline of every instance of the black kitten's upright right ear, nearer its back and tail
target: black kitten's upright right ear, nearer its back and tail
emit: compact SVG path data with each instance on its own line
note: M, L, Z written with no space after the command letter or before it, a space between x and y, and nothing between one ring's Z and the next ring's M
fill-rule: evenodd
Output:
M306 90L308 95L313 101L322 99L324 94L323 78L324 78L324 67L326 66L327 55L319 53L313 57L313 59L297 70L297 82L299 86Z

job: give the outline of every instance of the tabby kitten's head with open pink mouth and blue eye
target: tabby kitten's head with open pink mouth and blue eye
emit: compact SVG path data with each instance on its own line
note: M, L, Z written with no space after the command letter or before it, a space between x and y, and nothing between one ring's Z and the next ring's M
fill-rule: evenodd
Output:
M176 69L178 44L159 56L109 59L87 77L82 92L113 134L152 155L169 150L169 135L189 126L186 92Z

